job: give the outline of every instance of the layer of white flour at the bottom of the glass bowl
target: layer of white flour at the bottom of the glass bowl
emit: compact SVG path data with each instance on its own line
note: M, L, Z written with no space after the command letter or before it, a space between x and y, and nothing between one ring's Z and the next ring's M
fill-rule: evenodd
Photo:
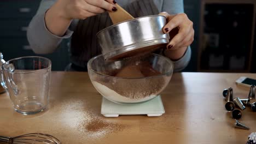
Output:
M146 101L146 100L156 97L156 95L150 95L148 97L144 97L141 99L130 99L123 95L118 94L117 92L113 91L112 89L110 89L96 81L92 81L92 85L94 85L94 87L97 89L97 91L104 97L107 97L110 100L121 102L121 103L138 103L138 102Z

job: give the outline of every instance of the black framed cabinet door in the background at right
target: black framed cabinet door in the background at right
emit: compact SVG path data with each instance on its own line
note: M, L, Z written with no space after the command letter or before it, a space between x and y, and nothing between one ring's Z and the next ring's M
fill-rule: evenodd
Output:
M199 71L252 71L254 7L250 0L202 1Z

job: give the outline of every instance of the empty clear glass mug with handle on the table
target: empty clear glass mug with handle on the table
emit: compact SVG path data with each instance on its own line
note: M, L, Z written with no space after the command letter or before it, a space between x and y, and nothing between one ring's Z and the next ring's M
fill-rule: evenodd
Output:
M50 59L37 56L11 59L2 65L1 76L1 85L8 91L15 111L29 115L48 106Z

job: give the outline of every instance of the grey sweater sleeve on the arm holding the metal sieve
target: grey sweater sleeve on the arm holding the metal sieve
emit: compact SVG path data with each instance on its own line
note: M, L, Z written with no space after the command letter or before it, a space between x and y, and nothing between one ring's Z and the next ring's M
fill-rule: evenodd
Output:
M168 14L184 13L183 0L164 0L162 3L162 11L166 11ZM191 59L191 48L188 46L187 51L183 57L178 61L174 61L174 71L181 71L189 64Z

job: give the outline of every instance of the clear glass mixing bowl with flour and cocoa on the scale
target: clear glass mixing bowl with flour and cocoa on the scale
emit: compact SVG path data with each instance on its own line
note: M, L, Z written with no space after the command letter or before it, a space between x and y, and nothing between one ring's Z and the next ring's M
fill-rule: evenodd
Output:
M139 78L115 76L131 61L135 64L147 63L161 74ZM112 62L105 61L104 57L99 55L88 62L88 73L92 84L104 98L121 104L141 103L157 97L164 91L171 80L173 66L170 59L157 54L149 55L139 61L121 59Z

